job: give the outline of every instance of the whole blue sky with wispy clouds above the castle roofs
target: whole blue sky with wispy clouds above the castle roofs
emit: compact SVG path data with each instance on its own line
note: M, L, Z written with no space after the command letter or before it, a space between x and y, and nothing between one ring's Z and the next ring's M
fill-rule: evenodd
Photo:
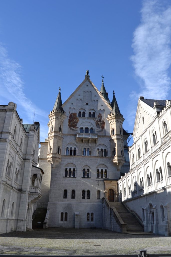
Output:
M133 132L139 96L170 99L171 2L161 0L0 2L0 104L41 124L58 88L64 102L84 80L113 90Z

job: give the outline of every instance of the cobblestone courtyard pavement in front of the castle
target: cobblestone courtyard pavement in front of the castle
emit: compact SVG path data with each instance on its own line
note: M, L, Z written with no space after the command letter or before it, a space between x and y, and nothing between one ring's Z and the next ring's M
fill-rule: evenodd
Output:
M102 229L47 228L0 234L0 254L112 255L171 254L171 237L120 234Z

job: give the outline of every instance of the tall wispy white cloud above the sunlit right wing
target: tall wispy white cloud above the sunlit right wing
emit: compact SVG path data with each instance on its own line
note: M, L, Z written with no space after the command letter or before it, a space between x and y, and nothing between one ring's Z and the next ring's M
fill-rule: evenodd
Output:
M165 7L163 5L165 4ZM139 90L130 97L167 99L170 89L168 68L171 63L171 6L158 0L143 1L141 23L134 31L131 56ZM133 107L133 106L132 106ZM131 113L134 113L135 107ZM130 123L133 119L130 119Z

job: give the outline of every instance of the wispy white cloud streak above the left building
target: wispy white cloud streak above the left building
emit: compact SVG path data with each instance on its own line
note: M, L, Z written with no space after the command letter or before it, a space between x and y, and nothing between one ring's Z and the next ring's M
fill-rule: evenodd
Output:
M24 82L21 79L21 66L8 57L7 50L2 43L0 43L0 89L0 104L8 104L9 101L15 102L19 115L20 112L24 115L24 117L22 116L24 123L33 122L36 108L34 120L41 123L41 137L46 137L47 134L45 131L47 131L46 123L48 121L48 114L42 109L39 109L26 97L24 93ZM45 121L45 117L47 117L47 121Z

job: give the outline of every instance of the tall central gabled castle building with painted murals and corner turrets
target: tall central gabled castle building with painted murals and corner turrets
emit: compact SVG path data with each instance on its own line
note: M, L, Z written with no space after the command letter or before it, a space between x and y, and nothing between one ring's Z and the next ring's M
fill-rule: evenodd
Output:
M45 227L103 227L102 198L118 199L117 180L125 164L123 121L103 80L99 92L86 75L63 105L59 91L39 157L45 176L38 208L47 208Z

